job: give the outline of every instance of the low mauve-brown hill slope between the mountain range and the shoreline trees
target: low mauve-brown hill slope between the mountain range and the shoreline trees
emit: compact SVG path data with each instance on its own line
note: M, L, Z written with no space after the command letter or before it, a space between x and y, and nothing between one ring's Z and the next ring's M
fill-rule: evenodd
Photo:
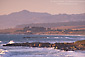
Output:
M74 22L58 22L58 23L33 23L33 24L23 24L17 25L16 28L24 27L47 27L47 28L85 28L85 21L74 21Z

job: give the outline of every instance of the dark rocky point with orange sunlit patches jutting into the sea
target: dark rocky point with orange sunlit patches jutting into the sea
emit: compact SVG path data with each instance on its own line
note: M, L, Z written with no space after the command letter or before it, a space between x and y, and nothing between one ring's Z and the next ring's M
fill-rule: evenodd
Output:
M75 50L85 50L85 40L76 41L74 43L41 43L41 42L32 42L32 43L13 43L6 44L3 46L28 46L28 47L54 47L54 49L60 49L65 51L75 51Z

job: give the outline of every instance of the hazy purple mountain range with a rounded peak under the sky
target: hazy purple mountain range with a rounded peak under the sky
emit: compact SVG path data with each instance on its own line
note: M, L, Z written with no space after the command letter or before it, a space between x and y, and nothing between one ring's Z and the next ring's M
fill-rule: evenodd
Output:
M30 12L27 10L23 10L8 15L0 15L0 29L14 27L16 25L21 24L59 23L72 21L85 21L85 13L72 15L68 14L51 15L49 13Z

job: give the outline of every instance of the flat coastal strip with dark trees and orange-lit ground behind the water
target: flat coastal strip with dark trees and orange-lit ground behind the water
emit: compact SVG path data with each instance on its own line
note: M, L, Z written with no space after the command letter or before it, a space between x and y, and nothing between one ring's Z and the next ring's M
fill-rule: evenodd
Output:
M0 34L73 34L85 35L85 28L63 29L63 28L45 28L45 27L24 27L14 29L0 30Z

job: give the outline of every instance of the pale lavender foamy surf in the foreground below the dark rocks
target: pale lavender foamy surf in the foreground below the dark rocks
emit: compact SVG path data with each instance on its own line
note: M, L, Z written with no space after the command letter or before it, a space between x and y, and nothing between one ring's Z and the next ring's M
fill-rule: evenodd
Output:
M6 48L6 47L5 47ZM9 53L3 57L84 57L84 53L64 51L54 48L8 47Z

